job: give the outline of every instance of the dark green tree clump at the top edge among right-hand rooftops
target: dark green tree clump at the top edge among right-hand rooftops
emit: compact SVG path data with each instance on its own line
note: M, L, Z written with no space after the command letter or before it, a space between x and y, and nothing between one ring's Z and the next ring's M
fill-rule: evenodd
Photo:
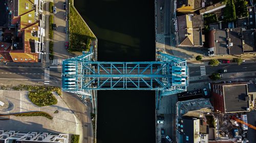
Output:
M226 22L231 22L237 19L236 7L233 0L225 0L226 7L224 8L224 19Z

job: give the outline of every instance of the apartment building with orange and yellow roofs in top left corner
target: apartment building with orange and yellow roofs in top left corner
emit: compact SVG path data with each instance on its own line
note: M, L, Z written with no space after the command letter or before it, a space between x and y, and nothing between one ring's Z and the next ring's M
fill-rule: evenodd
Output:
M11 43L5 49L0 47L3 61L38 62L44 50L45 15L42 0L8 0L8 26L3 29L9 41L1 41L0 45ZM7 55L9 53L9 55Z

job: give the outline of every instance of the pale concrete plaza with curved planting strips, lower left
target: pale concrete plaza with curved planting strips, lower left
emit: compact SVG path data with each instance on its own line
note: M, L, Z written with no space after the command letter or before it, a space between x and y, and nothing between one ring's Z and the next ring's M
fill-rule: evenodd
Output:
M3 91L0 90L0 97L9 101L7 109L1 109L0 113L18 113L27 111L45 111L53 116L53 120L45 117L14 117L10 120L1 121L1 130L16 131L38 131L38 132L57 132L79 134L79 121L73 112L63 102L63 100L54 94L58 103L56 105L39 107L30 102L27 91ZM53 113L58 110L58 113Z

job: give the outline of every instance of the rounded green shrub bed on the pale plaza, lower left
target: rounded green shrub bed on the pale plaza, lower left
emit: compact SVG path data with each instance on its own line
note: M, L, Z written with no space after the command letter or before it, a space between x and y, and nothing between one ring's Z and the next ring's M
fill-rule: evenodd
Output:
M51 91L37 90L29 92L29 99L37 106L49 106L57 104L57 99Z

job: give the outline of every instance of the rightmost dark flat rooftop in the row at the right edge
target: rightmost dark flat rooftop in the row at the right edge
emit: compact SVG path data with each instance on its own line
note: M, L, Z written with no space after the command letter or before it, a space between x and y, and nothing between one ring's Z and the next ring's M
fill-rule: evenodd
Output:
M243 36L243 49L244 52L254 52L256 51L256 37L255 37L255 30L246 30L242 31Z

